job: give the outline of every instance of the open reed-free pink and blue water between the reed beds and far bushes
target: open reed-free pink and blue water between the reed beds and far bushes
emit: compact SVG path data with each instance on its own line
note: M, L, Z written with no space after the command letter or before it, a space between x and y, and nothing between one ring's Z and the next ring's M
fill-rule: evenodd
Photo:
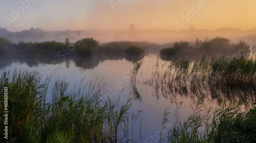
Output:
M131 72L134 63L125 59L117 60L97 60L80 59L66 61L52 61L49 59L2 59L0 70L27 70L38 71L41 74L42 80L46 76L52 76L52 81L49 84L48 101L51 100L51 88L55 79L66 80L69 83L68 93L78 92L79 87L83 88L88 82L103 86L101 94L102 99L110 98L113 101L120 100L120 103L126 103L128 98L133 98L131 113L135 115L139 110L138 119L131 133L132 138L137 142L155 141L161 130L164 110L169 107L170 116L168 128L172 128L172 124L183 122L186 120L196 105L198 97L189 92L176 92L175 94L166 93L163 95L158 92L152 85L146 84L154 73L153 68L156 62L161 68L165 61L158 59L157 55L150 54L142 59L142 66L136 77L136 90L139 93L134 95L131 85ZM54 63L54 64L51 64ZM163 67L164 69L165 67ZM161 69L159 69L161 70ZM81 79L83 79L81 81ZM205 91L203 91L205 92ZM204 104L207 107L218 106L218 99L210 98L210 93L204 93ZM132 119L132 118L131 118ZM130 120L131 120L130 119Z

